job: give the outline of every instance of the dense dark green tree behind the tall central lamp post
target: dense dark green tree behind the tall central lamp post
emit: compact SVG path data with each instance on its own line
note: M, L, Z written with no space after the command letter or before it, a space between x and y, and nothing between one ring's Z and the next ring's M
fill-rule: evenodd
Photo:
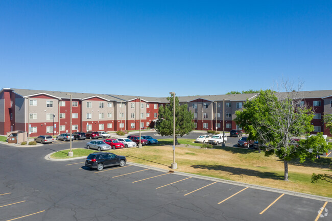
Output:
M158 119L155 129L161 136L173 135L173 97L167 97L170 102L158 110ZM175 97L175 144L178 145L178 136L183 136L195 129L194 114L188 111L188 105L179 105L179 97Z

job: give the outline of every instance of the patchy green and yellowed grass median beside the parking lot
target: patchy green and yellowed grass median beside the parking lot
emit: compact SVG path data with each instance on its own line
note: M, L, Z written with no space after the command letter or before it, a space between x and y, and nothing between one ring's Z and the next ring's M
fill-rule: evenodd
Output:
M283 162L277 157L265 157L263 152L227 146L224 148L215 146L214 149L186 147L187 143L193 145L190 139L179 139L179 142L182 143L182 147L176 146L175 161L178 165L176 171L332 197L330 183L324 181L311 183L313 173L332 176L332 172L328 171L332 158L322 157L315 162L306 161L303 164L296 160L291 161L290 181L286 182L283 181ZM173 162L172 144L172 139L160 139L159 145L143 146L141 149L111 150L111 152L126 156L129 162L170 169ZM74 157L77 157L79 154L87 156L96 151L73 149L73 152ZM57 152L52 157L56 154L65 157L67 153L68 150Z

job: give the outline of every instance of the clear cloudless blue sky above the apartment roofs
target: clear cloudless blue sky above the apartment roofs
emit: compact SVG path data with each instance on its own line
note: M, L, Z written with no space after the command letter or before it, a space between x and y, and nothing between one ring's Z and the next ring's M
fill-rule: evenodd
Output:
M0 88L329 90L332 1L1 1Z

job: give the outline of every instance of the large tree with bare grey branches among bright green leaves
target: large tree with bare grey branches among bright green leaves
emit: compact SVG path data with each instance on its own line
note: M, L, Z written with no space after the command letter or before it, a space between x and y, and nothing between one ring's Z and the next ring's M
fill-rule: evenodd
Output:
M299 90L290 90L288 82L283 83L286 92L261 90L259 96L247 101L243 111L236 111L236 124L249 133L249 139L257 140L265 156L276 155L284 163L284 180L288 181L288 162L306 158L315 160L317 153L325 153L327 144L322 136L309 137L313 131L313 111L301 104ZM299 87L300 88L300 87ZM294 138L306 136L307 139ZM322 138L322 139L321 139Z

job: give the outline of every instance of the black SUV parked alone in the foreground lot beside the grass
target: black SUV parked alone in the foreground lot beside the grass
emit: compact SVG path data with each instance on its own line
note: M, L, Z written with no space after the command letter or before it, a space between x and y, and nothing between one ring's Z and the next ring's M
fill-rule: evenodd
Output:
M127 159L125 156L118 156L108 152L96 152L89 154L89 156L87 156L87 158L85 159L85 166L100 171L106 166L113 166L113 165L124 166L126 165L126 162Z

